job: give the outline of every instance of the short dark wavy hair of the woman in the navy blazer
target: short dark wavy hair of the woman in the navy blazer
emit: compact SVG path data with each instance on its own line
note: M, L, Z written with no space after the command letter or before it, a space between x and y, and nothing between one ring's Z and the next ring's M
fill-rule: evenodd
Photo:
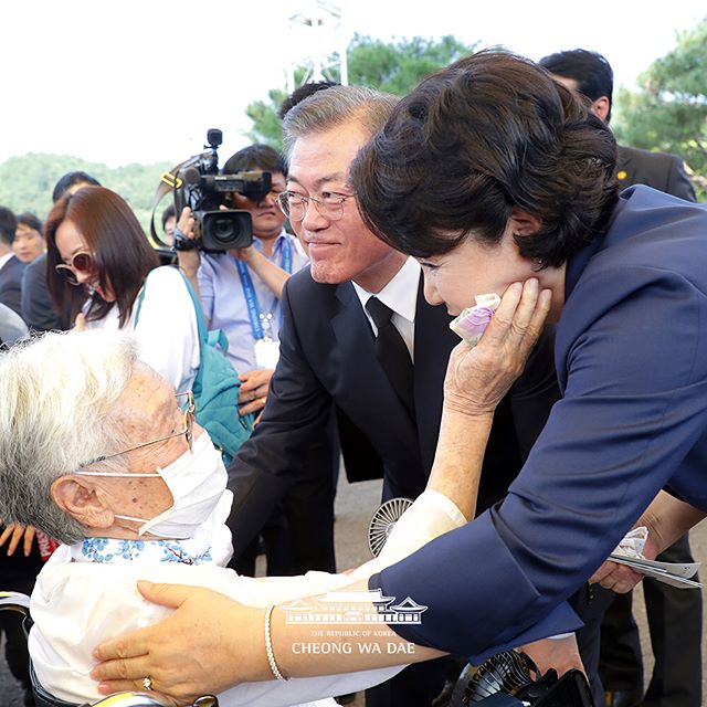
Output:
M488 50L403 98L351 178L369 228L403 253L496 244L518 207L541 223L516 236L520 253L557 266L608 223L615 155L609 127L545 70Z

